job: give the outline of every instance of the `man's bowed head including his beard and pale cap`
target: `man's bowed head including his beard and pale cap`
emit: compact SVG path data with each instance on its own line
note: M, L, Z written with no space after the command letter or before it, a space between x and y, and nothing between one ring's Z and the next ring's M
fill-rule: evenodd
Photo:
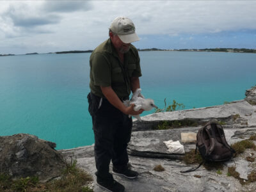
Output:
M109 37L118 52L129 51L132 42L140 40L135 33L135 27L131 19L116 17L109 28Z

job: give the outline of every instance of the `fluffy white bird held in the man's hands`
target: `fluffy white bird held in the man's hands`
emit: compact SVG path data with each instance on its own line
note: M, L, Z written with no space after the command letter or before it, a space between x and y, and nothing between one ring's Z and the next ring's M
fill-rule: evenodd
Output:
M143 109L144 111L150 111L152 108L157 108L154 104L153 99L145 99L141 95L141 89L138 88L132 95L131 100L124 100L125 106L131 106L131 104L135 104L134 111L139 111L140 109ZM131 115L129 115L130 117ZM132 115L135 118L137 118L141 122L140 115Z

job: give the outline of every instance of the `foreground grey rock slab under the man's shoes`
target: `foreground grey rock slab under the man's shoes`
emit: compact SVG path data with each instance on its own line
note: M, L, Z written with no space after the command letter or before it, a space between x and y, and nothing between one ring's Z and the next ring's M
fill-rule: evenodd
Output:
M88 148L85 148L87 150ZM81 152L81 148L79 148ZM65 156L65 151L62 150ZM66 153L67 155L67 153ZM67 158L69 158L67 156ZM114 179L125 186L125 191L236 191L237 181L232 177L218 175L216 170L207 171L203 167L196 172L180 173L180 170L187 170L190 166L183 164L182 161L170 161L168 159L145 158L130 156L132 170L140 173L138 179L125 179L124 177L113 175ZM161 164L164 172L154 171L154 167ZM79 154L77 165L86 170L93 176L93 191L104 192L106 190L97 186L95 180L95 161L94 157L82 157ZM110 170L112 164L110 165ZM194 175L200 175L197 178Z

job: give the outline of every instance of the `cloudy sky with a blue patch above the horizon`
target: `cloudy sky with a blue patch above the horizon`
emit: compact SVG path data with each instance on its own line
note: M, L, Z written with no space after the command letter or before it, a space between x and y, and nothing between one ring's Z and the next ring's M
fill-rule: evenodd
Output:
M256 1L0 1L0 54L94 49L115 17L137 48L256 49Z

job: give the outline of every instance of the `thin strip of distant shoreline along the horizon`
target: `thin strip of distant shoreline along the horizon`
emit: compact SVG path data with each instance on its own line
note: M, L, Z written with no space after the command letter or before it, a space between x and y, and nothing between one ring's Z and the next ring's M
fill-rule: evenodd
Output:
M245 49L245 48L213 48L213 49L138 49L138 51L196 51L196 52L246 52L246 53L256 53L256 49ZM47 54L68 54L68 53L84 53L93 52L93 50L86 51L58 51L58 52L48 52ZM16 56L16 55L31 55L38 54L37 52L26 53L26 54L0 54L0 56ZM45 53L43 53L45 54Z

